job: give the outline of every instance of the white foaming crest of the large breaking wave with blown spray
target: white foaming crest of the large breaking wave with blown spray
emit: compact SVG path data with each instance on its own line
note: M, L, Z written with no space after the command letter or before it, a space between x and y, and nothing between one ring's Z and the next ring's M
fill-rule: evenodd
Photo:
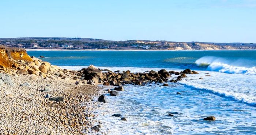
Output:
M209 71L217 71L217 72L229 73L229 74L256 75L256 67L248 68L244 66L231 65L229 64L230 61L222 58L218 58L218 57L205 56L196 60L195 63L198 66L208 65L207 70Z

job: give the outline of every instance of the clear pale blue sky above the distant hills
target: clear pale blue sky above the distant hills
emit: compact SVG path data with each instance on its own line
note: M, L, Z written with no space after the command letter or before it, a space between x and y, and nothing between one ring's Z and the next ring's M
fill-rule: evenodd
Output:
M256 0L1 0L0 38L256 43Z

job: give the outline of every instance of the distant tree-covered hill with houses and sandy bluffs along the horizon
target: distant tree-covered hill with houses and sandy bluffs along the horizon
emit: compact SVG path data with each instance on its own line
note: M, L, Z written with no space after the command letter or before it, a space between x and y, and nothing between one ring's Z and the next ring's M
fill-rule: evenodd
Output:
M0 38L0 44L30 49L161 49L161 50L219 50L256 49L255 43L174 42L151 40L113 41L69 37Z

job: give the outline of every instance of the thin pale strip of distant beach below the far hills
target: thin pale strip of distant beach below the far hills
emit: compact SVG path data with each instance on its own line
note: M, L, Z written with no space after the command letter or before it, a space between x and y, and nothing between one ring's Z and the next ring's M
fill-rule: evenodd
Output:
M256 49L219 49L219 50L140 50L140 49L25 49L26 51L253 51Z

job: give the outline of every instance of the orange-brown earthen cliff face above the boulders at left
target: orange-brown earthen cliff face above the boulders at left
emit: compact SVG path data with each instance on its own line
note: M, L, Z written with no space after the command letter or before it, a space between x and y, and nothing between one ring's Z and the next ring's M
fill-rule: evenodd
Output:
M12 65L18 60L32 61L25 49L0 46L0 65L12 68Z

